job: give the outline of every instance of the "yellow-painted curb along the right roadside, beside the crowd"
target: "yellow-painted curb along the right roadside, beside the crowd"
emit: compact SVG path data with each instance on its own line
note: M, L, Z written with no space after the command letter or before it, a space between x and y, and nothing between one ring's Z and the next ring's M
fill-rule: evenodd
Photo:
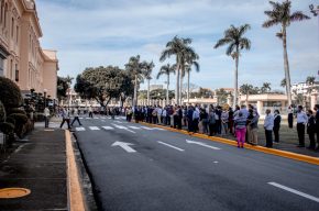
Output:
M147 125L147 126L161 127L161 129L165 129L167 131L183 133L185 135L190 135L185 130L177 130L177 129L172 129L172 127L167 127L167 126L150 124L150 123L145 123L145 122L140 122L140 123L144 124L144 125ZM219 142L219 143L222 143L222 144L237 146L237 142L235 141L227 140L227 138L223 138L223 137L207 136L207 135L199 134L199 133L194 133L194 134L191 134L191 136L201 137L201 138L209 140L209 141L212 141L212 142ZM265 154L276 155L276 156L279 156L279 157L295 159L295 160L298 160L298 162L314 164L314 165L318 165L319 166L319 158L317 158L317 157L311 157L311 156L307 156L307 155L300 155L300 154L297 154L297 153L290 153L290 152L286 152L286 151L275 149L275 148L267 148L267 147L263 147L263 146L252 146L252 145L248 145L248 144L245 145L245 148L251 149L251 151L257 151L257 152L265 153Z

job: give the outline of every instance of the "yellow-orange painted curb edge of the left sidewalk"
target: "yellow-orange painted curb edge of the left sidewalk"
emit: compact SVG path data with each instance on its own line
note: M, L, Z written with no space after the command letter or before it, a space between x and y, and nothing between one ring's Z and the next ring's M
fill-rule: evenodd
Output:
M68 210L85 211L84 195L79 182L79 175L75 160L74 148L70 140L70 132L65 130L66 163L67 163L67 190Z

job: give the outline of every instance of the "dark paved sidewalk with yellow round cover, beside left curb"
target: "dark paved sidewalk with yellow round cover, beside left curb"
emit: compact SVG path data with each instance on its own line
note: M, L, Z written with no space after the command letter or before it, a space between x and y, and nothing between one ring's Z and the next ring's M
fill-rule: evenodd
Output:
M68 210L65 131L36 123L10 157L0 163L0 189L26 188L29 196L0 199L0 210ZM56 127L55 123L52 126Z

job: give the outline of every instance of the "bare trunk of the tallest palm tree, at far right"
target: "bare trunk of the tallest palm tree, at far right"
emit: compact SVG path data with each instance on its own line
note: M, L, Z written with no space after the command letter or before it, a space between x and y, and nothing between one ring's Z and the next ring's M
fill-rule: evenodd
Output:
M287 53L287 33L286 26L283 26L283 47L284 47L284 67L285 67L285 77L286 77L286 91L288 98L288 106L292 104L292 82L290 82L290 73L289 73L289 63L288 63L288 53Z

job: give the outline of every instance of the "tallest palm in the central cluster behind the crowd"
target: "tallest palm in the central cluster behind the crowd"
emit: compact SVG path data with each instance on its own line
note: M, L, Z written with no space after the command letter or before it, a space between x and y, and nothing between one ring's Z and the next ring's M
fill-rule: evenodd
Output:
M179 88L179 80L183 70L185 69L186 65L186 57L195 57L195 51L189 46L191 43L190 38L182 38L175 36L172 41L166 44L166 48L162 52L160 60L164 62L166 58L170 56L176 56L176 90L175 90L175 99L176 103L180 104L180 88ZM182 86L182 85L180 85Z

